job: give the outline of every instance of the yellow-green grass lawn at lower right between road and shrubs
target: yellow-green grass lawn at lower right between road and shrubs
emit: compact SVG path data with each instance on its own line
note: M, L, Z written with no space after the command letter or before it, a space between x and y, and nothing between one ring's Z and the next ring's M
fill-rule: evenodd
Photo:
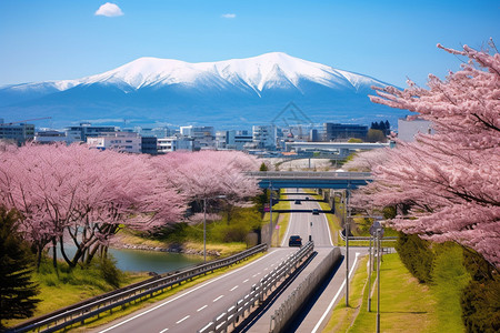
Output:
M443 268L443 271L448 269L450 266ZM461 283L456 283L456 279L447 279L444 284L432 286L421 284L404 268L397 253L383 256L380 274L381 332L464 332L460 299L456 292L456 285ZM376 285L374 275L376 272L372 286ZM457 276L454 273L451 275ZM323 332L376 331L377 291L372 297L372 311L368 312L367 278L367 259L363 259L351 282L350 307L346 307L342 299ZM464 280L467 276L463 275Z

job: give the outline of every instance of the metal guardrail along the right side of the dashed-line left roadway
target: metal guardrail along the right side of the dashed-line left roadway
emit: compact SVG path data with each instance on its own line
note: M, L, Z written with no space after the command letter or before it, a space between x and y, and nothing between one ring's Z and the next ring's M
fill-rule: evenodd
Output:
M234 329L271 294L276 287L281 284L302 262L309 258L314 250L314 243L308 242L296 253L289 255L274 270L263 276L259 284L253 284L250 292L242 299L213 319L210 323L198 330L198 333L228 332L232 326Z

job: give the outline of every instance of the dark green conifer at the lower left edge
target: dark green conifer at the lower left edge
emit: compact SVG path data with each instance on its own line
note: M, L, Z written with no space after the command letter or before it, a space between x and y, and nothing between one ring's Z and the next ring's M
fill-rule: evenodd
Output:
M10 319L33 315L39 300L31 281L32 254L18 231L19 214L0 208L0 330Z

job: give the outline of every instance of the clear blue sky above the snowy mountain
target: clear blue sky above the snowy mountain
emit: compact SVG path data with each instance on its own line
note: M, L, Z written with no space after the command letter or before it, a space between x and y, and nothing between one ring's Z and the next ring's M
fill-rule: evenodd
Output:
M436 48L500 46L499 1L1 0L0 85L77 79L140 57L190 62L281 51L406 87L460 60Z

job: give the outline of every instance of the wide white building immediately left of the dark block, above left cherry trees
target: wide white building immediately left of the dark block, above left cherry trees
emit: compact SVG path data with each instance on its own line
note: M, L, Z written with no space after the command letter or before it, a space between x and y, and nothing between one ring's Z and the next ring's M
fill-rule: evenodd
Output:
M140 153L141 137L133 132L106 133L100 137L87 138L90 148L114 150L119 152Z

